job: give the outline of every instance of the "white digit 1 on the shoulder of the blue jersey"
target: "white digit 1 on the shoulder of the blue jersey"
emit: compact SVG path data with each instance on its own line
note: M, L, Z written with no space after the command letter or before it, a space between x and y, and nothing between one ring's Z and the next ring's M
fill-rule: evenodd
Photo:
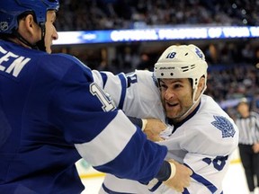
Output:
M100 89L100 87L98 87L96 84L90 84L90 92L94 96L96 96L99 99L99 101L102 102L103 111L110 111L115 109L115 106L112 104L112 101L108 99L107 95L105 95L105 93L103 93L103 90Z

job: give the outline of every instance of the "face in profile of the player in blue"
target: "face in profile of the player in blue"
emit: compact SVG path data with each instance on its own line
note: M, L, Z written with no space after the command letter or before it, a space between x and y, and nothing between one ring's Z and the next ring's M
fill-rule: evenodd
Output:
M51 45L53 40L58 39L58 32L54 26L54 22L56 21L56 13L55 11L47 12L47 21L45 23L46 34L45 34L45 47L48 53L51 53Z

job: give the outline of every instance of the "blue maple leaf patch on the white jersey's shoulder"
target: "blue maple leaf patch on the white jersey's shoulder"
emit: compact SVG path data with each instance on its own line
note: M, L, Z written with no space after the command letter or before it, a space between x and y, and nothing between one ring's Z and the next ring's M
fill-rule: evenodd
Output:
M222 132L222 137L234 137L236 131L233 127L232 123L225 117L213 116L215 121L211 122L211 124L219 128Z

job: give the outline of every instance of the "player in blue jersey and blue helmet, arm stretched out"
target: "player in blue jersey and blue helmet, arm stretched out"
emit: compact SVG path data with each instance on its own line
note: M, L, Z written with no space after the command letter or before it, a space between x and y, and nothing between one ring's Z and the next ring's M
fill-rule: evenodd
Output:
M0 1L0 193L80 193L81 157L101 172L183 190L190 169L165 161L166 147L148 141L76 57L50 54L58 6Z

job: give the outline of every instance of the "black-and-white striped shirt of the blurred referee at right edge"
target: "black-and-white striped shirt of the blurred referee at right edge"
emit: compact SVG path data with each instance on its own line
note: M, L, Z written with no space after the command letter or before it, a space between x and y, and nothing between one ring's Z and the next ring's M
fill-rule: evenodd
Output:
M248 118L236 120L239 129L239 144L254 145L259 142L259 114L251 111Z

